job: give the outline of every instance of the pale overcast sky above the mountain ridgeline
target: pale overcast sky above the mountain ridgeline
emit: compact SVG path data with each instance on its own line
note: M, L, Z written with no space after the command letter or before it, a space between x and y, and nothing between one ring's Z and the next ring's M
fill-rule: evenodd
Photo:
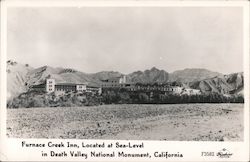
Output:
M92 73L243 71L236 7L9 8L8 59Z

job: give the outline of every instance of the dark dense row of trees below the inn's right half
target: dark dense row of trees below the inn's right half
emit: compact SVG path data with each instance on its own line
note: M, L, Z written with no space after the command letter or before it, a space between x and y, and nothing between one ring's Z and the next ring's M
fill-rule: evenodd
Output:
M244 103L244 96L226 96L219 93L207 93L200 95L162 94L160 92L126 91L124 89L106 89L102 94L105 104L177 104L177 103Z

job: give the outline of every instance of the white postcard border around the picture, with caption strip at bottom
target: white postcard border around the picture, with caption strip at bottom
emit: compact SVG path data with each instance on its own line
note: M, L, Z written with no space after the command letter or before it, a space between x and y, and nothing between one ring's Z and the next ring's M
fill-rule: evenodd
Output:
M73 139L14 139L6 137L6 56L7 56L7 8L8 7L242 7L244 11L244 142L175 142L175 141L136 141L136 140L73 140ZM123 149L128 152L155 152L157 150L168 152L179 152L184 155L184 158L153 158L153 159L121 159L121 158L89 158L88 161L225 161L218 157L202 157L203 151L220 151L223 148L228 149L233 153L233 156L228 161L247 161L249 159L249 3L245 1L226 1L226 2L163 2L163 1L2 1L1 2L1 140L0 140L0 159L4 161L83 161L81 158L48 158L42 157L41 152L48 150L61 150L61 148L23 148L22 142L28 143L45 143L49 141L53 143L72 142L81 145L82 142L87 143L102 143L106 144L116 142L120 143L144 143L144 149ZM68 149L68 148L67 148ZM64 148L64 150L67 150ZM110 152L106 148L104 151ZM114 149L116 150L116 149ZM86 161L86 160L85 160Z

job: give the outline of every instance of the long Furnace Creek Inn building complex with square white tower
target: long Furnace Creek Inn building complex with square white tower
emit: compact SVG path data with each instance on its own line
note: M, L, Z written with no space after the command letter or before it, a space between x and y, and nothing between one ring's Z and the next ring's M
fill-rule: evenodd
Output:
M131 83L127 81L125 75L101 80L100 86L90 86L88 83L56 83L55 79L46 79L45 83L33 85L32 90L45 91L47 93L55 92L63 94L65 92L89 92L92 94L101 95L103 89L124 88L128 91L143 91L143 92L161 92L164 94L200 94L198 89L184 88L181 86L171 86L169 83Z

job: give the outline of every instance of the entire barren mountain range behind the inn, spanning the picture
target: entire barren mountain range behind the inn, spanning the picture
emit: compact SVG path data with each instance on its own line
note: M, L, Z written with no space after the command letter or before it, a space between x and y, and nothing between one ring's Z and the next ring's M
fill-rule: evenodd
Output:
M47 78L54 78L61 83L83 83L100 85L101 80L124 75L120 72L102 71L84 73L74 69L43 66L32 68L9 60L7 62L7 97L11 98L27 91L30 85L40 84ZM243 72L223 75L207 69L184 69L173 73L153 67L145 71L127 74L128 82L132 83L166 83L178 82L185 87L200 89L202 92L222 94L243 94Z

